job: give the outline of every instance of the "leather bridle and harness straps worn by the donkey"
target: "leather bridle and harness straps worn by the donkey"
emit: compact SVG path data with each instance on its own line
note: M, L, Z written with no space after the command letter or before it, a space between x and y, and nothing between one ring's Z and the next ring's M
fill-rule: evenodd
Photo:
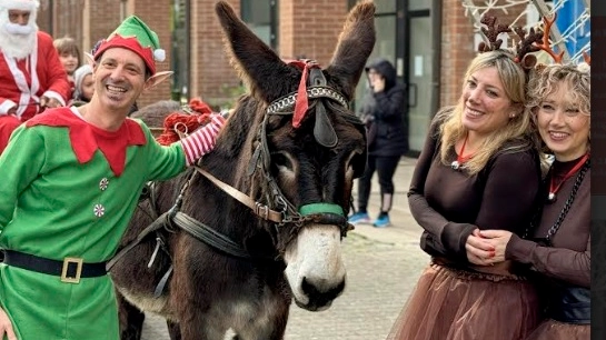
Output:
M329 99L339 103L341 107L348 109L348 102L342 94L335 91L334 89L326 86L326 79L319 68L309 69L309 81L310 87L302 91L296 91L289 93L285 97L278 98L272 101L266 109L266 116L257 134L257 141L259 142L257 149L255 150L250 163L248 166L248 176L252 176L256 171L260 171L261 176L266 179L266 201L267 204L264 204L254 198L247 196L246 193L239 191L238 189L231 187L228 183L217 179L215 176L202 169L200 166L196 164L192 168L196 170L190 176L189 180L182 186L179 196L173 204L173 207L159 216L150 226L148 226L135 241L127 244L118 252L107 264L107 270L109 271L116 262L122 258L128 251L133 247L139 244L148 234L151 232L159 233L160 229L167 229L168 231L175 231L175 226L187 231L190 236L196 239L205 242L206 244L222 251L227 254L234 256L241 259L265 259L268 260L268 257L252 257L248 253L247 250L242 249L241 246L236 243L234 240L227 236L217 232L212 228L201 223L200 221L189 217L188 214L179 211L182 197L187 191L190 183L193 181L196 173L200 173L212 182L217 188L248 207L256 216L260 217L266 221L270 221L274 224L276 238L278 244L276 244L279 253L284 252L286 246L298 234L299 230L308 223L319 223L319 224L335 224L340 229L341 238L347 236L347 231L354 229L345 216L344 209L336 203L331 202L316 202L301 206L297 209L281 192L276 180L271 176L269 169L271 164L268 142L267 142L267 122L270 116L294 116L295 107L299 102L299 96L306 94L307 99ZM316 124L314 127L314 137L316 141L324 147L332 148L337 144L337 134L335 129L326 113L326 108L324 102L315 102L316 108ZM345 114L346 121L354 124L362 124L358 117L354 114ZM150 188L153 191L153 188ZM148 199L153 198L153 192L151 192ZM156 202L150 203L152 209L156 207ZM157 210L153 212L155 216L158 216ZM287 238L279 238L279 228L286 224L292 226L289 230ZM156 258L156 253L159 247L163 248L163 241L160 237L157 237L157 247L156 251L152 254L152 258L148 264L151 266ZM165 249L166 251L166 249ZM277 260L277 258L271 258L271 260ZM172 272L172 266L170 266L167 273L158 283L156 289L156 296L159 296L163 290L163 287L168 280L168 277Z

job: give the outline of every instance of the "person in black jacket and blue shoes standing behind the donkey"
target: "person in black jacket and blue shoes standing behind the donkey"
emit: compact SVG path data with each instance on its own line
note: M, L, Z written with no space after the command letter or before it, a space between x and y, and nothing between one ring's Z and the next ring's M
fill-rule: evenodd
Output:
M370 223L368 200L372 176L377 172L380 186L380 211L371 223L388 227L394 203L394 174L401 156L408 152L404 124L405 87L397 81L394 66L379 58L366 67L370 93L367 93L359 114L368 132L368 162L358 179L358 209L349 217L351 224Z

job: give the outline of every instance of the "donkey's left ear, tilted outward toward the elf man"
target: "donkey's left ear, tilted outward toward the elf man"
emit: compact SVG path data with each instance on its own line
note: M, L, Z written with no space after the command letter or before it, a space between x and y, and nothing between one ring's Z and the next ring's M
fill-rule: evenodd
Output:
M230 63L251 93L270 102L288 92L288 83L277 83L294 69L286 63L236 16L225 1L215 10L223 29L223 44ZM275 93L275 94L272 94ZM276 94L277 93L277 94Z

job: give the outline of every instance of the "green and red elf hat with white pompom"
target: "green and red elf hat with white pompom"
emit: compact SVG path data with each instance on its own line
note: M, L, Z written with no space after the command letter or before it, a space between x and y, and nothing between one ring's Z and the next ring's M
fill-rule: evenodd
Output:
M166 58L165 50L160 49L158 34L136 16L128 17L101 42L95 52L95 60L111 48L125 48L139 54L152 76L156 74L156 61L165 61Z

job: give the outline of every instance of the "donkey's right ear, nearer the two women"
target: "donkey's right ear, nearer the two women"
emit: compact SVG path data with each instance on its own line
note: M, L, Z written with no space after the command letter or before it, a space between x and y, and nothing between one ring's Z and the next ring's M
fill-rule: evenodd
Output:
M341 82L348 99L352 99L375 39L375 4L372 1L358 2L347 16L332 60L326 68L331 78Z

